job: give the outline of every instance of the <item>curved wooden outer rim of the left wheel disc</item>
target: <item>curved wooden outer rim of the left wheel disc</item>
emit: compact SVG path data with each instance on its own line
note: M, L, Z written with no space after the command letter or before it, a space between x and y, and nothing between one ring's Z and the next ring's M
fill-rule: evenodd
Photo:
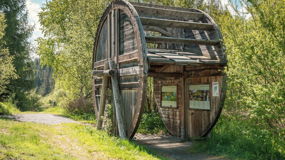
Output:
M113 1L110 3L110 5L105 10L103 16L101 17L101 20L99 22L97 32L96 32L96 38L94 41L94 48L93 48L93 60L92 60L92 69L96 69L96 54L97 54L97 45L99 43L99 35L102 31L103 24L106 22L108 15L115 11L116 9L120 9L124 11L127 16L130 18L131 24L134 29L134 33L136 35L136 42L137 42L137 49L138 49L138 61L139 61L139 87L138 89L138 95L136 99L136 106L135 110L133 111L134 114L132 116L132 120L130 122L129 126L125 126L127 137L129 139L133 138L133 136L136 133L136 130L139 127L140 120L142 118L142 113L144 110L145 105L145 98L146 98L146 85L147 85L147 71L148 71L148 65L147 65L147 59L146 59L146 42L145 42L145 36L142 29L142 24L140 22L139 16L133 8L133 6L126 1ZM108 56L107 56L108 57ZM116 59L117 57L110 57L110 59ZM108 58L107 58L108 59ZM119 77L118 77L119 78ZM92 80L93 82L93 100L94 100L94 110L96 113L96 117L98 118L98 110L97 110L97 103L96 103L96 84L95 80ZM122 97L121 97L122 98ZM121 101L124 101L123 99ZM122 106L123 107L123 106Z

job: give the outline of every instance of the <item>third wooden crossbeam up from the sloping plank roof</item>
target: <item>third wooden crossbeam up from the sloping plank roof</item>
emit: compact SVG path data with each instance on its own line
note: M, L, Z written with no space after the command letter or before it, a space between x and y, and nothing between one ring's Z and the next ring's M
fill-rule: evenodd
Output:
M139 15L154 16L154 17L165 17L165 18L174 18L174 19L184 19L184 20L199 20L203 17L204 14L198 12L187 12L187 11L175 11L170 9L161 9L161 8L151 8L136 6L134 8Z

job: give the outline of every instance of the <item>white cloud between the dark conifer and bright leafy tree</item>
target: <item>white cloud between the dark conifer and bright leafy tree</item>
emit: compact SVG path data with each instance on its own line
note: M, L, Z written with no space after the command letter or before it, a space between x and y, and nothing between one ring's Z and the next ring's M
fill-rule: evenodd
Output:
M29 13L28 17L29 23L31 23L32 25L35 24L35 29L30 40L32 41L32 43L36 44L35 42L36 38L43 37L42 31L40 30L41 25L39 23L39 17L38 17L38 13L42 11L41 5L39 3L34 3L31 0L27 0L26 6Z

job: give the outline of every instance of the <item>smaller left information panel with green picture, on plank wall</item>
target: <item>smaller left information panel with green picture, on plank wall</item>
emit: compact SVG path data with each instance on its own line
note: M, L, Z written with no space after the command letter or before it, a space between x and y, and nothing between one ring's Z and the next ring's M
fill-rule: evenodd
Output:
M177 85L161 86L161 107L177 108Z

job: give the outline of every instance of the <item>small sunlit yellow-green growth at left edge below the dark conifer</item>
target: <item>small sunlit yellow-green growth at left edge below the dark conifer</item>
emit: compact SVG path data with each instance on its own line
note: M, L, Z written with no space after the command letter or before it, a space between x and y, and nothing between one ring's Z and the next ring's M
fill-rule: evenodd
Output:
M16 113L20 113L20 110L17 109L11 99L6 99L4 102L0 102L0 115L11 115Z

